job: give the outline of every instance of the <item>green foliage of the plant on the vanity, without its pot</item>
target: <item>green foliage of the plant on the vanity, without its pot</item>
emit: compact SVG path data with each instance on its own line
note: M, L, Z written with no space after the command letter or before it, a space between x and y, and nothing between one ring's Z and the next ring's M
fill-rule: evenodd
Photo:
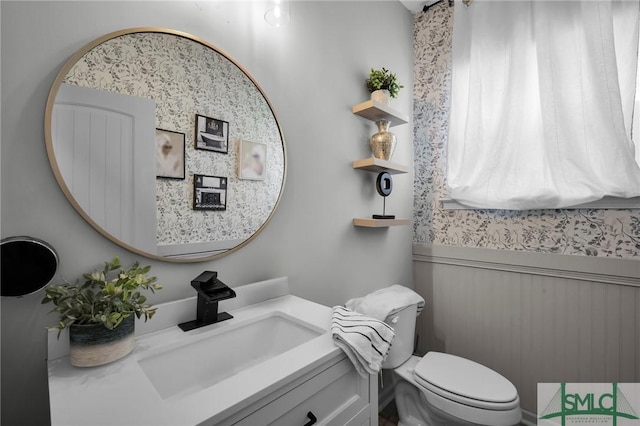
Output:
M96 270L83 274L85 281L75 284L56 284L45 289L42 303L53 303L57 312L58 325L51 327L60 332L72 324L103 324L110 330L116 328L125 319L135 314L144 316L145 321L156 313L155 307L146 303L147 298L141 290L152 293L162 289L156 284L156 277L147 273L151 266L141 267L135 262L129 269L122 269L118 256L104 262L102 271Z

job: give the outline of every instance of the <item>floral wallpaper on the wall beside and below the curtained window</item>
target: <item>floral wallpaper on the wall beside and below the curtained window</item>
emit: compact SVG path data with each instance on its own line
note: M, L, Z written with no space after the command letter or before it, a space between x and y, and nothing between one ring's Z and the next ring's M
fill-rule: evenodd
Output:
M457 7L457 6L456 6ZM640 210L445 210L453 8L414 18L414 241L640 259Z

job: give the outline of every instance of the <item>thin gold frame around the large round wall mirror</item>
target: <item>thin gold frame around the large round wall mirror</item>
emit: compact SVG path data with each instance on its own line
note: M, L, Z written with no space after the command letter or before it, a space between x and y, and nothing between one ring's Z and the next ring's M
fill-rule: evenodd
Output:
M141 250L137 247L134 247L126 242L121 241L120 239L118 239L117 237L115 237L114 235L110 234L109 232L107 232L103 227L101 227L82 207L81 205L78 203L78 201L76 200L76 198L74 197L72 191L69 189L69 186L67 185L67 182L65 182L64 177L61 173L61 170L59 168L58 165L58 160L56 159L56 154L54 152L54 143L53 143L53 134L52 134L52 116L53 116L53 107L54 107L54 103L56 101L56 96L58 95L58 92L60 90L61 85L63 84L64 79L67 77L69 71L74 67L74 65L80 61L88 52L90 52L91 50L93 50L94 48L96 48L97 46L112 40L114 38L117 37L121 37L121 36L125 36L125 35L130 35L130 34L137 34L137 33L160 33L160 34L168 34L168 35L173 35L173 36L177 36L177 37L182 37L184 39L188 39L191 40L195 43L198 43L206 48L211 49L212 51L216 52L217 54L221 55L222 57L224 57L225 59L227 59L231 64L233 64L235 67L238 68L238 70L240 70L244 76L246 76L251 83L253 83L253 86L255 86L255 89L259 92L259 94L262 96L262 98L264 99L269 112L272 114L273 116L273 120L275 121L275 125L277 126L277 133L278 133L278 137L280 139L280 143L281 143L281 148L282 148L282 180L280 182L279 185L279 191L277 194L277 198L275 200L275 203L273 205L273 207L271 208L271 211L269 212L269 214L267 215L267 217L264 219L264 222L246 239L244 239L244 241L240 242L239 244L237 244L236 246L227 249L224 252L220 252L220 253L216 253L216 254L211 254L211 255L206 255L206 256L202 256L202 257L197 257L197 256L192 256L192 257L167 257L167 256L162 256L162 255L158 255L158 254L154 254L154 253L149 253L146 252L144 250ZM252 241L257 235L260 234L260 232L262 232L262 230L266 227L266 225L270 222L271 218L273 217L273 214L275 213L278 205L280 204L280 200L284 191L284 185L286 182L286 177L287 177L287 155L286 155L286 144L285 144L285 140L284 140L284 135L282 133L282 127L280 126L280 122L278 121L278 118L276 116L276 113L273 109L273 106L271 105L271 102L269 101L269 99L267 98L267 96L265 95L264 91L262 90L262 88L260 87L260 85L256 82L256 80L247 72L246 69L244 69L240 64L238 64L233 58L231 58L226 52L218 49L217 47L213 46L212 44L198 38L195 37L193 35L181 32L181 31L176 31L176 30L170 30L170 29L163 29L163 28L154 28L154 27L140 27L140 28L130 28L130 29L125 29L125 30L120 30L120 31L115 31L109 34L106 34L102 37L97 38L96 40L88 43L87 45L85 45L84 47L82 47L80 50L78 50L76 53L74 53L68 60L67 62L64 64L64 66L61 68L61 70L58 72L53 85L51 87L51 90L49 92L49 97L47 99L47 105L46 105L46 110L45 110L45 144L46 144L46 149L47 149L47 155L49 158L49 163L51 165L51 168L53 170L54 176L56 178L56 181L58 182L58 185L60 186L60 188L62 189L64 195L66 196L67 200L71 203L71 205L75 208L75 210L94 228L96 229L101 235L103 235L104 237L108 238L109 240L111 240L112 242L116 243L117 245L133 252L133 253L137 253L139 255L145 256L147 258L150 259L155 259L155 260L161 260L161 261L167 261L167 262L176 262L176 263L189 263L189 262L203 262L203 261L209 261L209 260L213 260L213 259L217 259L220 258L222 256L228 255L230 253L235 252L236 250L244 247L246 244L248 244L250 241ZM187 140L186 143L190 143L192 141ZM261 220L261 218L259 219Z

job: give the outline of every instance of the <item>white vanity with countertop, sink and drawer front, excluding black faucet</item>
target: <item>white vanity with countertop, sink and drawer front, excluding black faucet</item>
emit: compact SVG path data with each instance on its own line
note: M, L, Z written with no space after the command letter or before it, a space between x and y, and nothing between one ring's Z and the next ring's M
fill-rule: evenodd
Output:
M360 376L333 342L330 307L291 295L286 277L234 291L235 298L221 302L233 318L187 333L175 324L195 316L195 297L157 305L157 318L136 325L136 349L100 367L73 367L68 338L49 332L51 424L377 424L377 378ZM274 318L266 332L254 327ZM288 345L287 339L297 343L274 350ZM225 345L248 356L211 354ZM194 368L182 368L186 362ZM203 362L207 368L198 367Z

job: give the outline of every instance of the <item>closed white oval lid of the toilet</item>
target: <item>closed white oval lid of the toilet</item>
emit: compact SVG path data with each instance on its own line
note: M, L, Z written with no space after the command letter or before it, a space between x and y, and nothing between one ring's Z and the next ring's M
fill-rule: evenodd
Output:
M413 374L423 387L461 403L493 409L519 403L518 391L509 380L482 364L455 355L428 352Z

